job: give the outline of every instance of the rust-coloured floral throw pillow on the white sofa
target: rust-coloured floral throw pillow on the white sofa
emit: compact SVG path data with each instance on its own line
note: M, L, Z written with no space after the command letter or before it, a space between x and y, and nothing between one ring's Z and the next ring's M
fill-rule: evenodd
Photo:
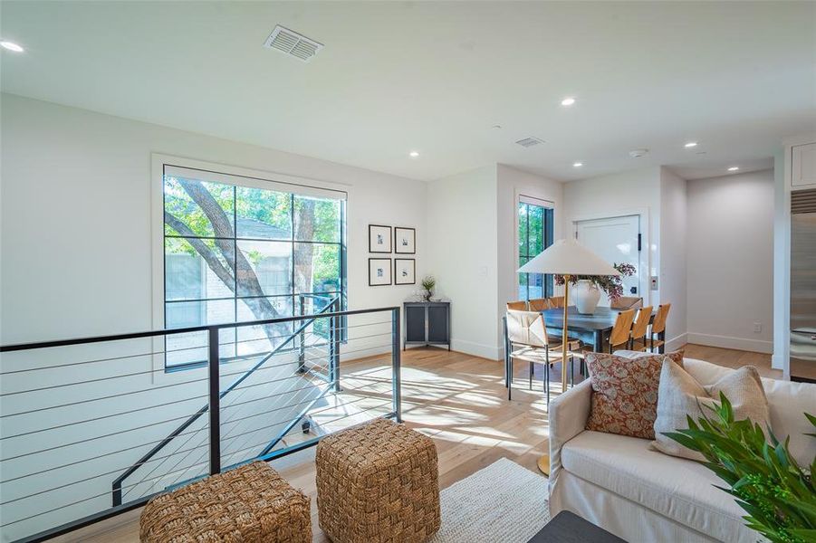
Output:
M638 357L587 355L592 381L587 430L655 439L660 370L666 358L683 367L683 351Z

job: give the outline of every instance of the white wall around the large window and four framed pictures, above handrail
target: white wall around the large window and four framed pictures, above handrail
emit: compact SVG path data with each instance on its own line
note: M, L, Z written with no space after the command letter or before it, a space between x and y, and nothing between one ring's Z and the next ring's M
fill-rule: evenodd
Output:
M14 95L2 95L2 341L151 329L150 155L349 186L350 309L401 305L416 286L368 286L368 224L417 228L427 184Z

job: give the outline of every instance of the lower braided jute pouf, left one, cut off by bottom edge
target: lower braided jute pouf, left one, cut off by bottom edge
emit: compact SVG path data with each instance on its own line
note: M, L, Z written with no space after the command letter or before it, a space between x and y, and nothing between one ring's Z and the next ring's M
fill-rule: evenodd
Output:
M309 498L253 462L150 500L143 543L311 543Z

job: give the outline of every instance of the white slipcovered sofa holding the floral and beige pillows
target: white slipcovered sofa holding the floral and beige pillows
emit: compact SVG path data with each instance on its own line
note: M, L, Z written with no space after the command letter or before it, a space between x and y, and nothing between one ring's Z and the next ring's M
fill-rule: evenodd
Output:
M686 358L702 384L734 371ZM816 413L816 385L763 378L773 433L791 436L802 466L816 455L804 412ZM550 514L571 510L631 543L753 542L744 511L713 485L725 486L706 467L649 448L649 440L585 430L590 381L550 403Z

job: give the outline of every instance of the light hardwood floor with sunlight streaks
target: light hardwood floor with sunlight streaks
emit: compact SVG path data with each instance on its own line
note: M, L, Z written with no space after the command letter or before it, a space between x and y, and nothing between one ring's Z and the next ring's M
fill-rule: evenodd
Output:
M763 376L782 376L782 372L771 369L770 355L698 345L686 345L685 349L686 357L726 367L754 365ZM540 368L530 391L527 364L515 365L513 401L508 402L500 362L437 348L415 348L403 354L402 363L403 419L436 443L441 488L502 457L537 472L536 461L546 450L549 433ZM388 364L387 359L368 359L346 365L344 372L370 375L372 370ZM553 381L560 371L556 368L553 372ZM323 542L328 539L317 521L313 458L314 448L274 461L272 466L312 498L314 541ZM131 511L56 540L137 542L139 512Z

